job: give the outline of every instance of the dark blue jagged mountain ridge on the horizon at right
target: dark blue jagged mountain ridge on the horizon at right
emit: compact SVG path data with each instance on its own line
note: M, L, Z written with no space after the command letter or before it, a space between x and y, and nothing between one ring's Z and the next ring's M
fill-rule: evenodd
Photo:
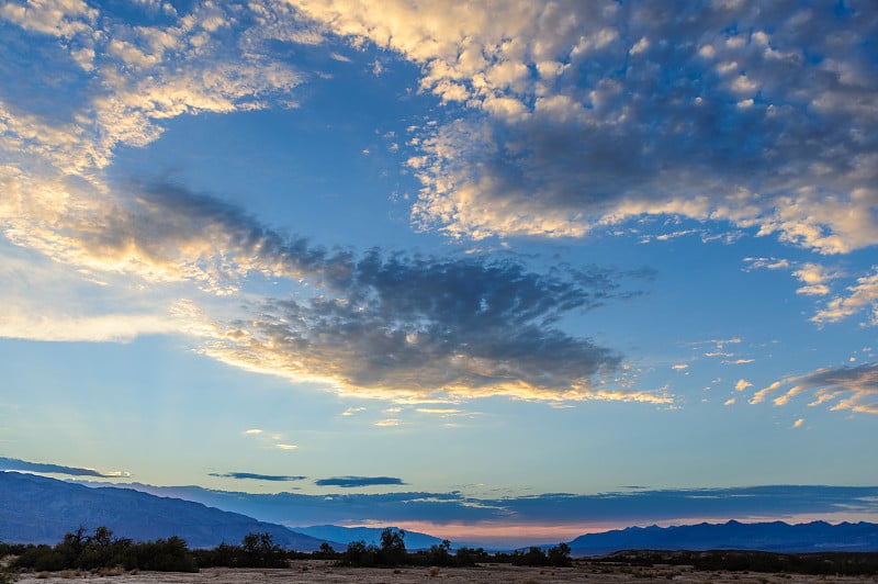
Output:
M878 551L878 525L825 521L698 524L677 527L628 527L579 536L570 543L574 555L603 555L620 550L758 550L772 552Z

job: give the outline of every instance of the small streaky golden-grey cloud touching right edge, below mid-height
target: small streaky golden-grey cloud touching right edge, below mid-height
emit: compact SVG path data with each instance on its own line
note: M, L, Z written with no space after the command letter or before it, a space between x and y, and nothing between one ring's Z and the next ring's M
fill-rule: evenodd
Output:
M830 409L833 412L878 414L877 363L824 368L804 375L778 380L756 392L750 403L758 404L769 393L784 386L790 389L774 400L776 406L787 405L797 395L810 393L813 401L808 405L811 406L831 404Z

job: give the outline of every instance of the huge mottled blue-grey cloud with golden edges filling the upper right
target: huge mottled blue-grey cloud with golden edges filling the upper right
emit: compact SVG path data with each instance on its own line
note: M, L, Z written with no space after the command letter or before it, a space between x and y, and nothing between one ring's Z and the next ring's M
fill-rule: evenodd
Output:
M292 3L469 110L413 159L425 228L578 237L678 214L821 254L876 243L868 4Z

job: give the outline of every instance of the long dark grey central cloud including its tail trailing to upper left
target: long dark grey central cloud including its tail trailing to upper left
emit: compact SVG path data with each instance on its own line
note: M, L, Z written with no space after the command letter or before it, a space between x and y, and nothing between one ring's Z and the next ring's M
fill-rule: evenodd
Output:
M140 260L224 290L251 273L304 282L228 323L205 352L344 391L392 397L436 392L538 400L619 398L666 403L649 393L598 393L616 351L556 327L635 294L638 273L524 260L435 257L372 249L328 250L264 226L240 209L179 186L143 188L136 204L108 216L87 247ZM375 393L378 392L378 393Z

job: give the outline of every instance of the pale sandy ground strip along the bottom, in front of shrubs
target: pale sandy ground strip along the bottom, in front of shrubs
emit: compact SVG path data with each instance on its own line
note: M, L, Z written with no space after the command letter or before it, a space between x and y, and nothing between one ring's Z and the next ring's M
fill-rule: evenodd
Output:
M142 572L99 576L93 574L53 573L22 574L20 584L69 584L87 580L92 584L248 584L248 583L340 583L406 584L415 582L543 584L554 582L652 582L673 581L693 583L804 583L804 582L878 582L878 577L809 576L799 574L764 574L757 572L696 572L686 566L628 568L587 563L574 568L520 568L505 564L485 564L477 568L401 568L361 569L336 568L330 562L307 560L294 562L289 570L229 570L207 569L198 574Z

